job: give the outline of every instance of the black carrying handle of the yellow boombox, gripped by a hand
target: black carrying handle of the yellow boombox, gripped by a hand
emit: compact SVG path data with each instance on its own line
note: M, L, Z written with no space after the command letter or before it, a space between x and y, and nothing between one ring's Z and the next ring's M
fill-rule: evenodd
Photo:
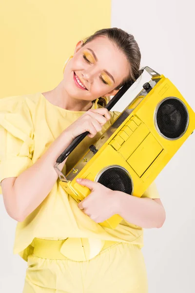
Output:
M151 76L156 77L156 76L160 76L155 70L151 69L148 66L145 66L143 68L141 68L139 70L138 76L136 78L136 80L138 79L138 77L143 73L143 71L146 70ZM154 73L154 74L152 74ZM123 85L120 90L117 92L117 94L112 98L112 100L110 100L110 102L105 106L106 109L108 109L108 111L110 111L112 109L112 107L114 107L114 105L118 102L118 100L124 95L124 93L129 89L130 86L132 86L132 84L134 84L135 81L129 82L125 85ZM69 154L76 148L76 146L79 145L79 143L89 134L89 131L85 131L84 133L81 133L80 135L78 135L74 141L70 144L70 146L68 146L62 153L61 155L59 155L56 163L60 164L62 163L68 156ZM57 164L56 164L57 165ZM55 166L56 166L55 165Z

